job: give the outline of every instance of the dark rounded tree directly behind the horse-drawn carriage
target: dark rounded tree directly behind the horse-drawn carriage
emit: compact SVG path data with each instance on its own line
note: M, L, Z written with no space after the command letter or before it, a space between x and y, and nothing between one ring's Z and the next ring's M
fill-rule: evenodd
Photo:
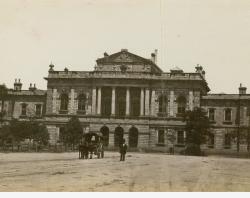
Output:
M66 124L65 130L62 131L61 139L64 144L71 144L74 147L74 145L79 143L82 132L82 126L79 119L73 116Z

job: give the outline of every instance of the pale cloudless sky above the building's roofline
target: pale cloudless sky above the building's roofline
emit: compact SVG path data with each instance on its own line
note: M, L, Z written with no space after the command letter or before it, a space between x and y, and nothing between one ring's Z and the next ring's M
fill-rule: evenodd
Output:
M46 89L49 64L91 71L121 49L164 72L203 66L210 93L250 93L249 0L0 0L0 84Z

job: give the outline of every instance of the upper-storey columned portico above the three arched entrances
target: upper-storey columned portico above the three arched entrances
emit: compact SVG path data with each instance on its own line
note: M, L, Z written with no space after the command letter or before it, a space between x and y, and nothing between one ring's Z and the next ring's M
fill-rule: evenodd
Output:
M155 91L144 87L99 86L92 88L92 115L102 117L150 116Z

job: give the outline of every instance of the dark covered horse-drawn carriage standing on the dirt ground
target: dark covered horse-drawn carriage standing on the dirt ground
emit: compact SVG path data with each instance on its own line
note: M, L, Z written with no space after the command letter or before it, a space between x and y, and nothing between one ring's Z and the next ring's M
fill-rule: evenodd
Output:
M104 157L103 137L97 133L86 133L83 135L79 145L79 159L92 159L93 154L98 158Z

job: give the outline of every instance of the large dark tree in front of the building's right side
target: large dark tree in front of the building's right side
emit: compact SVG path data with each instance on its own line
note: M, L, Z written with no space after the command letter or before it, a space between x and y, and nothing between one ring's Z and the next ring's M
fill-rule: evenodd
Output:
M202 108L195 108L184 114L186 122L186 154L201 155L200 145L205 143L210 134L210 122L206 112Z

